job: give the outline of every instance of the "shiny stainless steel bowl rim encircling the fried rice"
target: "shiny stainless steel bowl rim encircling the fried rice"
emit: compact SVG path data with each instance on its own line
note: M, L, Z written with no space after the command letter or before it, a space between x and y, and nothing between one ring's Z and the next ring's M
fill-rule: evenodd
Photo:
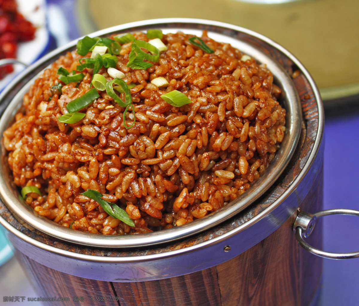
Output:
M280 103L287 111L285 137L274 161L270 164L265 174L262 175L248 191L232 201L229 205L208 216L189 224L154 233L128 236L107 236L70 230L34 212L31 207L19 199L18 189L12 183L11 172L6 159L6 150L4 146L1 146L2 162L0 166L0 196L16 219L26 227L37 229L60 240L93 247L143 247L146 245L171 242L176 239L195 235L228 220L263 195L288 165L295 148L297 147L302 125L300 100L292 79L282 65L276 61L275 54L270 54L259 48L257 46L258 39L275 47L293 59L294 57L288 51L270 39L250 30L216 21L200 19L145 20L101 30L89 36L108 36L112 33L146 31L150 28L162 29L164 33L182 31L199 36L201 35L202 30L207 30L209 37L219 42L230 43L240 51L250 54L257 60L257 62L265 63L267 65L274 75L274 82L283 91ZM7 107L0 120L1 137L4 130L13 122L15 113L22 105L23 95L28 91L34 79L60 55L65 54L68 51L73 51L75 45L76 41L73 41L64 47L47 54L32 66L28 67L7 87L6 90L4 90L0 95L0 101L2 106ZM295 60L295 62L300 66L300 63L297 60Z

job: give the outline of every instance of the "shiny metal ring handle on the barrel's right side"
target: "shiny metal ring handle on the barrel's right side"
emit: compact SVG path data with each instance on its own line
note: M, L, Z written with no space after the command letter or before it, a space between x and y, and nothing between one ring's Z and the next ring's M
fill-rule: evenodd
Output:
M328 215L355 215L359 216L359 210L354 209L328 209L316 212L315 214L309 214L308 212L301 211L299 212L297 218L294 221L293 231L295 231L295 236L297 237L298 243L307 251L311 252L314 255L318 255L324 258L331 259L349 259L359 257L358 252L351 253L332 253L326 252L323 250L316 249L306 243L304 238L307 238L313 231L314 225L318 217L328 216Z

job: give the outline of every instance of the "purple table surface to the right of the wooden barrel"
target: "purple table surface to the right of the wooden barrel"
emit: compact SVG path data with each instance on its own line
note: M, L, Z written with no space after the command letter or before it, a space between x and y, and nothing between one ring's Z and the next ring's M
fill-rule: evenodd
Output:
M323 209L359 210L359 101L356 102L344 107L338 104L325 112ZM320 219L324 226L324 250L359 250L357 216L333 215ZM358 271L359 258L324 259L322 292L318 306L358 306Z

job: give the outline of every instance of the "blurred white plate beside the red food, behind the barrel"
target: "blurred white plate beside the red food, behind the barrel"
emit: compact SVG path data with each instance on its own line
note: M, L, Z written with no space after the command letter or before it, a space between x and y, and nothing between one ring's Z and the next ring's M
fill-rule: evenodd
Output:
M18 60L29 65L44 55L48 48L49 34L46 27L46 2L45 0L17 0L16 2L18 3L19 13L23 14L24 18L36 28L33 40L18 44ZM0 80L0 92L22 70L24 70L24 66L14 65L14 72Z

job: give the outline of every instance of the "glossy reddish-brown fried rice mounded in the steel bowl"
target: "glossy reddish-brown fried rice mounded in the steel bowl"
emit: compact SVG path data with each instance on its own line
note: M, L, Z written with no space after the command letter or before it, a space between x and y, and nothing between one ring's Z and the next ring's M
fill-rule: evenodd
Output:
M133 33L148 42L145 33ZM125 235L180 226L214 212L244 193L266 171L284 137L281 90L265 64L228 43L202 34L206 53L181 32L163 34L167 47L147 69L127 67L132 42L117 55L135 113L125 115L106 91L73 124L58 118L66 105L90 90L93 69L63 85L59 67L76 70L75 51L61 56L31 85L15 123L4 132L14 183L36 186L25 202L39 215L89 233ZM113 35L112 35L113 37ZM90 56L90 53L87 57ZM98 72L107 81L107 69ZM167 88L151 81L164 77ZM61 94L53 86L61 83ZM161 96L173 90L191 103L181 107ZM124 94L120 97L124 100ZM127 212L135 226L108 215L95 190Z

